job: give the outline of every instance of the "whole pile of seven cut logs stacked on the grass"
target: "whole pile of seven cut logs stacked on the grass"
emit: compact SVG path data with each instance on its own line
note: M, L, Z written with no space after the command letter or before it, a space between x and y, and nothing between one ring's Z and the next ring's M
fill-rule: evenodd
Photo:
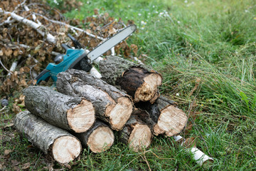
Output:
M16 115L16 128L60 163L74 160L82 147L103 152L114 139L137 152L153 135L181 133L187 116L159 95L160 73L118 56L107 56L99 67L102 79L71 69L58 74L58 91L24 89L28 111Z

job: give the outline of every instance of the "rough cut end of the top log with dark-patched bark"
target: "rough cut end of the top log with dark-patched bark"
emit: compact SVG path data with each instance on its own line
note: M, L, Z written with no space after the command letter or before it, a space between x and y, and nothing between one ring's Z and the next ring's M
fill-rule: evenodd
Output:
M149 101L154 103L159 97L158 86L161 85L162 78L159 73L151 73L144 78L144 83L140 86L134 94L134 102Z

